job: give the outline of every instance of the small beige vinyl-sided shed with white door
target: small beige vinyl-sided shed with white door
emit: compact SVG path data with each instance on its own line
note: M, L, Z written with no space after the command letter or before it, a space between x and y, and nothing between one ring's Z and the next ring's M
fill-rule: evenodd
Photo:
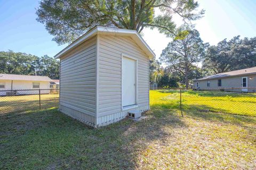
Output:
M60 112L94 127L149 110L149 58L137 31L96 26L61 50Z

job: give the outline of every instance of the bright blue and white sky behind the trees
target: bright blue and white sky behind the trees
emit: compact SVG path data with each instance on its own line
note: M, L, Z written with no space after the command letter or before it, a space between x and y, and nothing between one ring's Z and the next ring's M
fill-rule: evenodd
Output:
M256 37L256 0L199 0L205 10L194 22L202 40L210 45L234 36ZM38 1L0 0L0 51L13 50L36 56L53 57L67 46L58 46L44 25L36 21ZM143 30L143 39L158 58L171 41L156 29Z

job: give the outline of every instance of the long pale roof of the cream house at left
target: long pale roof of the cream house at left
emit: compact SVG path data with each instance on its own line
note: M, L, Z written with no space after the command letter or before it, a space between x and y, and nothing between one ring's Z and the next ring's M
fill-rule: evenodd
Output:
M19 74L0 74L0 80L52 81L47 76Z

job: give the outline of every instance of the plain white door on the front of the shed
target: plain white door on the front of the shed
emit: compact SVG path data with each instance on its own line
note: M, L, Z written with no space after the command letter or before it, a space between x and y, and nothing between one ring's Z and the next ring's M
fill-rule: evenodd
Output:
M122 60L122 106L136 104L136 61L123 57Z

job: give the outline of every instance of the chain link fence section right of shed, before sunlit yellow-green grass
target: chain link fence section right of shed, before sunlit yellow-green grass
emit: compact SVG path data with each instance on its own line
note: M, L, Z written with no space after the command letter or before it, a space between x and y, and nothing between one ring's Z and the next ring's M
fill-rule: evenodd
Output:
M151 89L150 106L256 115L256 88Z

